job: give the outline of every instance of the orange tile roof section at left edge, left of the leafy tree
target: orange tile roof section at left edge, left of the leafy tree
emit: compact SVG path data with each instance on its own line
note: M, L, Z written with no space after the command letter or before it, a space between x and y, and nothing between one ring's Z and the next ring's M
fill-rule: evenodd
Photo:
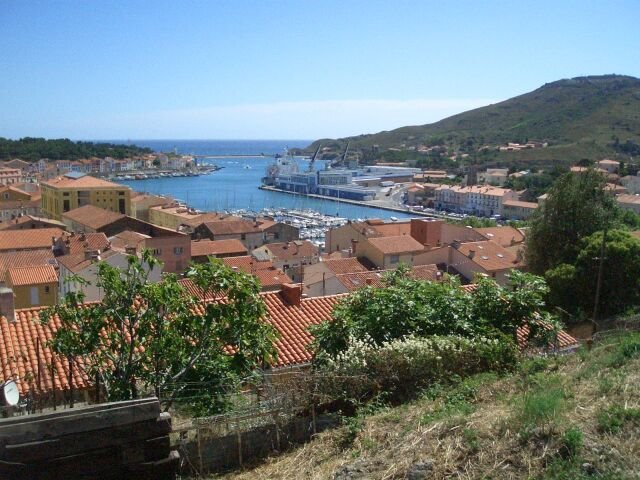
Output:
M16 310L15 322L0 316L0 369L2 379L16 380L20 393L29 390L46 394L55 385L56 390L69 389L69 363L55 354L48 342L60 328L60 320L53 317L49 323L40 322L42 308ZM37 353L40 353L38 362ZM78 360L80 366L82 360ZM51 365L54 366L53 377ZM40 367L40 371L38 371ZM73 386L81 390L89 387L89 380L81 368L73 370ZM40 391L38 392L38 380Z

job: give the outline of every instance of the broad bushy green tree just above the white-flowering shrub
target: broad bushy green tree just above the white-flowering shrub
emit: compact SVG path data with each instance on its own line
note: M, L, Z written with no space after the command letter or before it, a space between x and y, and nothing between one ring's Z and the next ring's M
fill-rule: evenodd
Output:
M385 288L365 287L352 293L334 309L331 321L312 329L320 359L335 357L354 340L380 346L408 335L506 334L515 339L516 329L525 323L532 326L532 335L541 331L537 327L542 323L553 323L544 313L545 281L515 270L509 286L478 279L472 293L465 292L455 277L425 282L404 270L387 275L385 283Z

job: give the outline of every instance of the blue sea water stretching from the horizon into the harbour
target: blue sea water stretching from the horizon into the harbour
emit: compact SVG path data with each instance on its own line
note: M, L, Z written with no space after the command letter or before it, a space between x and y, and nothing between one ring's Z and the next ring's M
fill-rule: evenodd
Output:
M154 178L122 180L120 183L139 192L171 195L190 207L208 211L288 208L309 209L325 215L349 219L406 218L409 215L365 205L309 198L302 195L260 190L261 179L276 154L287 148L308 146L311 140L102 140L110 143L130 143L157 152L184 155L211 155L201 158L202 164L217 165L217 170L198 177ZM247 155L236 157L233 155ZM264 156L263 156L264 155ZM309 160L298 158L301 170L309 168ZM325 168L317 161L315 168Z

